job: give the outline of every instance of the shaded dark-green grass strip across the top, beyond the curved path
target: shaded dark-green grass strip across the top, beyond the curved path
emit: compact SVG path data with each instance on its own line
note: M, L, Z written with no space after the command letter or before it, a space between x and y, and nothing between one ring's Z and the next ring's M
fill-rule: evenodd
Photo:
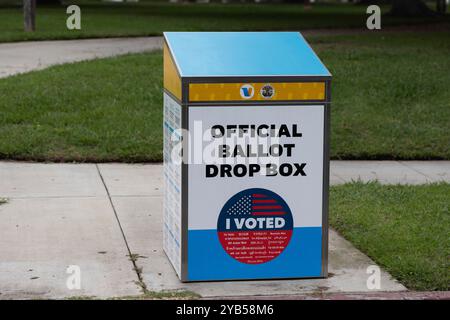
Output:
M67 2L69 3L69 2ZM81 8L81 30L66 28L66 6L39 7L37 31L23 32L20 6L0 7L0 42L73 39L112 36L160 35L163 31L304 30L314 28L365 28L365 6L299 4L170 4L167 2L102 3L71 1ZM387 12L389 6L383 6ZM385 16L383 26L450 20L407 19Z

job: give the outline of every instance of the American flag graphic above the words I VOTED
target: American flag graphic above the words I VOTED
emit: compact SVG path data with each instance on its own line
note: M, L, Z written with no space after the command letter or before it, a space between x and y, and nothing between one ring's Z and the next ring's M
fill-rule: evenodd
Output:
M270 195L252 193L242 196L228 210L230 216L276 216L284 215L283 206Z

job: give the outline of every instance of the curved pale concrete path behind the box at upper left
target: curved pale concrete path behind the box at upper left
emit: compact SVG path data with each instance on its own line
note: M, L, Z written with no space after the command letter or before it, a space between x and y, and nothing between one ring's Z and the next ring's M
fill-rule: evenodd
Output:
M56 64L162 48L162 37L26 41L0 44L0 78Z

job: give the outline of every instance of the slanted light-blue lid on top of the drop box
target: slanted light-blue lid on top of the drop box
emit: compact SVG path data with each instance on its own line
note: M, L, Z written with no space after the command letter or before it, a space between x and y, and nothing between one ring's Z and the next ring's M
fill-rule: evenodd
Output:
M165 32L182 77L330 77L299 32Z

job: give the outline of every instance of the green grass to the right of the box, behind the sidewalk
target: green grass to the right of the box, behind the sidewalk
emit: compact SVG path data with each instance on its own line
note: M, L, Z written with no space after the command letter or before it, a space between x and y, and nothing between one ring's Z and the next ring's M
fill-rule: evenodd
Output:
M448 34L313 39L333 74L333 158L450 159Z

